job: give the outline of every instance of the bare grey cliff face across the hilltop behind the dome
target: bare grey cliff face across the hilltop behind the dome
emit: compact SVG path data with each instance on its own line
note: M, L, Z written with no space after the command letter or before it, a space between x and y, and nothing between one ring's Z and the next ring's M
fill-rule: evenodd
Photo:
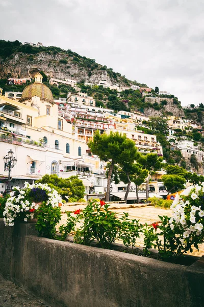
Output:
M67 63L61 63L60 60ZM79 63L73 62L72 58L64 53L45 53L40 52L35 55L17 53L7 58L5 61L0 59L0 78L6 78L11 74L13 78L33 77L36 71L43 71L48 77L57 79L85 80L91 83L98 83L99 80L106 80L110 84L116 82L111 79L106 70L94 69L93 71L82 67ZM123 82L121 81L121 85Z

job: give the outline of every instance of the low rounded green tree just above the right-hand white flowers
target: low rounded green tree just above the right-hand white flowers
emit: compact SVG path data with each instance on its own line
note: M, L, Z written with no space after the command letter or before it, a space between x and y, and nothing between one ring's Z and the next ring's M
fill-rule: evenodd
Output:
M171 192L177 192L185 188L185 178L179 175L163 175L162 180L167 188L168 194Z

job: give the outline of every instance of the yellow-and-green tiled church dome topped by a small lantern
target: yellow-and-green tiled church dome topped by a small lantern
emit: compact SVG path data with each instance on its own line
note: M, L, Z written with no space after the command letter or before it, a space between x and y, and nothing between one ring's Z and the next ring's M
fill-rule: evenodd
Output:
M53 94L49 90L49 87L42 83L42 75L40 73L35 75L34 83L31 83L24 88L22 97L19 101L31 100L34 96L40 97L42 101L54 103Z

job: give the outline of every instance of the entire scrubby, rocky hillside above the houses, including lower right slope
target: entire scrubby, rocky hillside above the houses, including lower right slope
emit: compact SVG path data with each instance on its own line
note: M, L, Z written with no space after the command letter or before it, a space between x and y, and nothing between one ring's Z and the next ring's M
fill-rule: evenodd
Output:
M75 90L65 84L59 87L50 85L48 80L51 77L59 79L75 79L81 87L82 92L96 99L96 106L107 106L115 111L140 111L147 116L176 115L184 116L180 101L170 95L161 99L151 92L153 97L142 96L139 90L116 90L105 89L103 86L85 86L85 82L98 83L106 80L110 84L121 86L139 85L147 87L146 84L131 81L112 68L95 62L68 50L58 47L31 47L22 45L18 40L11 42L0 40L0 86L5 91L22 91L24 86L7 86L7 78L33 77L34 73L40 71L43 74L43 82L49 86L54 97L67 97L68 92Z

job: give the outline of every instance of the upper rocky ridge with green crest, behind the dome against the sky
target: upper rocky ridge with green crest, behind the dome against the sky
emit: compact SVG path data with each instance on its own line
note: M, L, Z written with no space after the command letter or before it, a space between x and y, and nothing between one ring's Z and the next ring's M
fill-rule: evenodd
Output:
M111 84L139 85L116 73L112 68L97 64L94 59L81 56L58 47L31 47L22 45L18 40L11 42L0 40L0 78L32 77L33 73L42 70L48 77L70 79L81 82L85 80L97 83L106 80Z

